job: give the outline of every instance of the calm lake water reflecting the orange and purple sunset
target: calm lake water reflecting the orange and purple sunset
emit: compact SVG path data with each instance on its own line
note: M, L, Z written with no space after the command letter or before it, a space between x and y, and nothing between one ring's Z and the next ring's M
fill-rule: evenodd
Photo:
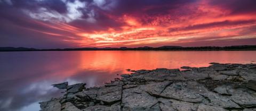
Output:
M100 86L126 69L176 69L210 62L255 63L256 51L0 52L0 110L36 111L38 101L60 96L51 84L68 81Z

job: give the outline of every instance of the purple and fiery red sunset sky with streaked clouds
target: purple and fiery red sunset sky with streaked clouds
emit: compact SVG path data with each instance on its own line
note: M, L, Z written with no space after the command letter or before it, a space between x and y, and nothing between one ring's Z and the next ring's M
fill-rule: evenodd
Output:
M256 45L255 0L0 0L0 47Z

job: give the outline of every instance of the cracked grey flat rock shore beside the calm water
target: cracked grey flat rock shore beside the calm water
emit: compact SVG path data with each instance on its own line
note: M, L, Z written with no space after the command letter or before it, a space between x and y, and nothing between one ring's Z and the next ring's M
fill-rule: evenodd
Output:
M65 95L39 103L40 111L255 111L256 64L210 64L182 71L129 70L97 88L54 84Z

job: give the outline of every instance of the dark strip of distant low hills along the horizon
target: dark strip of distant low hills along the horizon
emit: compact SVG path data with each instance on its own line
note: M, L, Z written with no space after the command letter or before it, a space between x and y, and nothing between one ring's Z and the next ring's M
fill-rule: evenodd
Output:
M182 47L182 46L161 46L161 47L120 47L120 48L97 48L97 47L84 47L84 48L55 48L55 49L36 49L26 47L0 47L0 52L12 51L65 51L65 50L256 50L256 45L242 45L242 46L204 46L204 47Z

